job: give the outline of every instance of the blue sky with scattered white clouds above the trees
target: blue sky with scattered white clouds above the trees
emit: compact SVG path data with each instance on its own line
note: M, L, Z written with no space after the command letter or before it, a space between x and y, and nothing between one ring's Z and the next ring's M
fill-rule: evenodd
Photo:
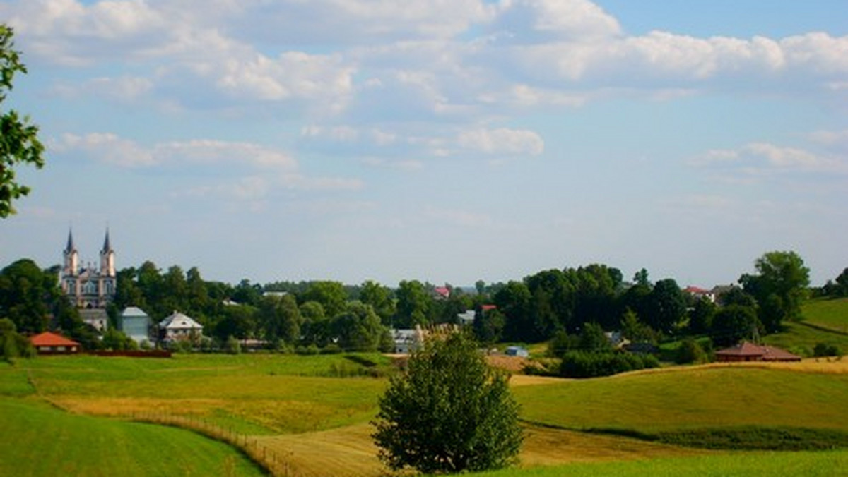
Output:
M44 169L0 266L680 286L848 267L844 0L0 1Z

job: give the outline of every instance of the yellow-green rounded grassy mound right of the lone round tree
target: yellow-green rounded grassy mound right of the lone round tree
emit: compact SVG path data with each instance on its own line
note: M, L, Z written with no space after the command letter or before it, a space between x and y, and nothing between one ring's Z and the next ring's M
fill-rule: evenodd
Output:
M522 416L567 428L654 432L738 425L848 430L848 375L683 368L514 390Z

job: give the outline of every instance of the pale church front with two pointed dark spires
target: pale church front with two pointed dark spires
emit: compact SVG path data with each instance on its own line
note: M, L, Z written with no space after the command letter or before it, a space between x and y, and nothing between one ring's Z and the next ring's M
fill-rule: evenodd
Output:
M100 263L82 265L80 253L74 245L74 236L68 231L68 244L64 247L64 265L59 276L62 291L76 308L103 309L114 298L117 275L114 268L114 250L109 242L109 230L100 250Z

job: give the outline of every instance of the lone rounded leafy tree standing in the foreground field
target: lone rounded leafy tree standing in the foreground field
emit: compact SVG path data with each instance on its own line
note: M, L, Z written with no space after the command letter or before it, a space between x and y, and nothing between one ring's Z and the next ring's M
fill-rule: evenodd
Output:
M378 457L422 473L498 469L522 445L509 377L489 368L460 332L429 336L408 369L389 381L372 422Z

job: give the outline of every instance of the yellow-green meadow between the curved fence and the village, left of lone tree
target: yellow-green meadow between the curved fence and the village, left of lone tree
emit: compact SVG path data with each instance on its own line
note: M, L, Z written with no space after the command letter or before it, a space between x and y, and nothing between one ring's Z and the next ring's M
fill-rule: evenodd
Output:
M388 366L379 355L370 357ZM385 380L322 377L357 365L334 356L189 355L174 359L40 358L25 363L42 397L79 413L168 413L247 434L367 421Z

